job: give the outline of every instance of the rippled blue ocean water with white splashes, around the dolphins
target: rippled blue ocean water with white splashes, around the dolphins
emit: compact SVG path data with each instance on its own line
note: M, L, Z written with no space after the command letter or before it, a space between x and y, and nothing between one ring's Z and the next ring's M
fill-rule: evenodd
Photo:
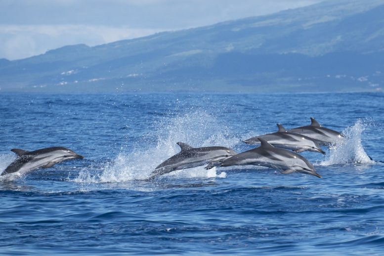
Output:
M383 93L1 94L0 171L12 148L85 159L1 177L0 254L382 255L383 113ZM139 180L178 141L241 152L310 117L347 138L302 153L323 178L250 166Z

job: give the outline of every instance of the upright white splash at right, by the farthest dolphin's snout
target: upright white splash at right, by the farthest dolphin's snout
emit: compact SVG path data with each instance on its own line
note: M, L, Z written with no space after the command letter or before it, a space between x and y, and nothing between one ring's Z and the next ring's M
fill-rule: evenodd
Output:
M364 151L361 141L363 131L369 127L370 122L359 119L353 126L346 128L342 132L345 138L341 138L332 146L329 159L320 165L373 164L374 161Z

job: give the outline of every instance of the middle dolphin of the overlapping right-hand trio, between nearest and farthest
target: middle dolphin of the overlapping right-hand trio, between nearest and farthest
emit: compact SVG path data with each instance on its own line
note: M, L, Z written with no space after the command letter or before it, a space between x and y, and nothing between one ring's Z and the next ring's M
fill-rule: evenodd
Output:
M313 151L325 154L315 140L299 133L288 132L282 125L277 124L278 131L244 140L247 144L260 144L258 138L265 139L271 145L279 148L293 150L296 153Z

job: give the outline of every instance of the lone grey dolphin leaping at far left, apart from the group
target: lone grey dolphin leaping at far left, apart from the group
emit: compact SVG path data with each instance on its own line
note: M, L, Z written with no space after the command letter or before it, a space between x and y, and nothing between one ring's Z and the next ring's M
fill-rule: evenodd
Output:
M26 151L22 149L11 149L18 158L13 161L2 173L5 175L12 172L26 174L39 168L50 168L57 163L68 159L84 158L74 151L64 147L50 147L35 151Z

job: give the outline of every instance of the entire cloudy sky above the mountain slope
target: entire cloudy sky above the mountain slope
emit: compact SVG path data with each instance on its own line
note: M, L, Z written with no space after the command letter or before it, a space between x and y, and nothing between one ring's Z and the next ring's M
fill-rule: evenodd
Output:
M0 58L266 15L321 0L0 0Z

